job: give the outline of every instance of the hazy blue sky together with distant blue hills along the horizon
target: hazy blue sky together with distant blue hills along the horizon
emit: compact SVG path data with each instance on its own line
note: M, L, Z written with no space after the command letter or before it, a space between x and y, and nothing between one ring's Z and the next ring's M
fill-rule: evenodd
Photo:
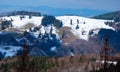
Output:
M9 11L37 11L42 14L95 16L119 11L120 0L0 0L0 13Z

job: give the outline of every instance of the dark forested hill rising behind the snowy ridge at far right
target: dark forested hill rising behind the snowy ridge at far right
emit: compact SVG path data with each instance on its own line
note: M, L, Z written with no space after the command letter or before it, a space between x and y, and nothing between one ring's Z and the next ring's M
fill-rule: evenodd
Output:
M110 13L106 13L106 14L102 14L102 15L97 15L97 16L94 16L92 18L113 20L115 17L120 17L120 11L110 12Z

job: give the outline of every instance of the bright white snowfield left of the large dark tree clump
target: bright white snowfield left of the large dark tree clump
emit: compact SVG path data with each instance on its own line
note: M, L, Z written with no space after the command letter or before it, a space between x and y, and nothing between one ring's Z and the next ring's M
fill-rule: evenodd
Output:
M20 16L10 16L10 17L2 17L4 20L13 20L12 24L15 28L20 28L24 26L27 23L34 23L36 26L41 24L42 17L35 17L33 16L31 19L29 19L29 16L25 16L22 20L20 19Z

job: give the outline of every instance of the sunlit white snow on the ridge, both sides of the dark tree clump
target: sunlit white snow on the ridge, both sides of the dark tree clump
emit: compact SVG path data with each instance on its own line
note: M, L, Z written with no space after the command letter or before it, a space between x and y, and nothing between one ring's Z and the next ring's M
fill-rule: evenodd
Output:
M41 24L41 20L43 17L35 17L33 16L31 19L29 19L28 16L25 16L22 20L20 19L20 16L11 16L11 17L3 17L3 20L13 20L12 24L14 28L21 28L27 23L33 23L35 26L39 26ZM72 28L71 32L73 32L76 36L78 36L81 39L88 40L88 36L90 32L92 31L93 34L97 34L99 32L99 29L105 28L105 29L113 29L112 27L105 25L104 22L107 22L108 20L99 20L99 19L90 19L90 18L84 18L80 16L58 16L57 19L61 20L63 22L63 26L67 26ZM111 20L112 21L112 20ZM111 22L110 21L110 22ZM78 25L78 28L76 29L76 26ZM41 28L41 31L44 33L45 29L43 26ZM50 29L50 28L48 28ZM114 30L114 29L113 29ZM49 31L49 30L47 30ZM55 29L54 29L54 33Z

